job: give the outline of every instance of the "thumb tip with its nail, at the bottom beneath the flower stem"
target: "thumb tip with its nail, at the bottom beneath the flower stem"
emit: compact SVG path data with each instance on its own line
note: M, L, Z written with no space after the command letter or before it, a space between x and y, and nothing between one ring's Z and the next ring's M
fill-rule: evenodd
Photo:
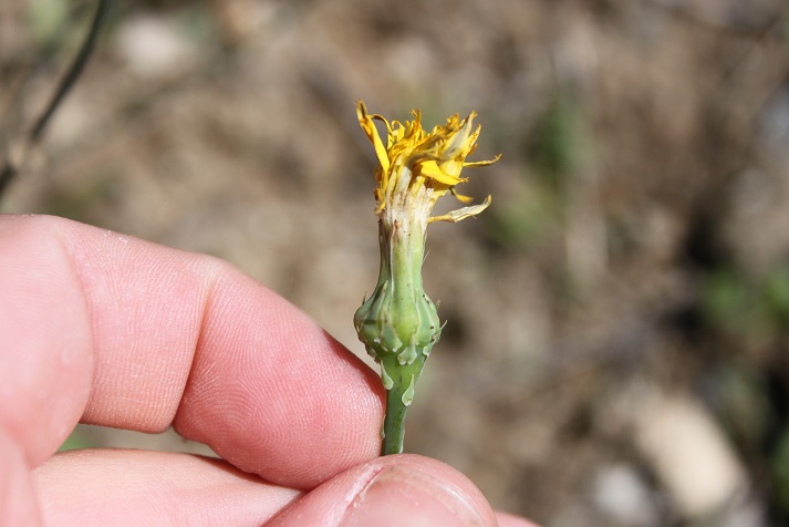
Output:
M293 502L271 526L495 526L481 493L448 465L385 456L347 471Z

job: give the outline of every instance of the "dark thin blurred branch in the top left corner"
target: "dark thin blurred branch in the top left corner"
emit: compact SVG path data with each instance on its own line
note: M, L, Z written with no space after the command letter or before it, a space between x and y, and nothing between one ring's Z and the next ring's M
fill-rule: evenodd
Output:
M18 155L9 153L4 166L0 169L0 196L2 196L6 188L8 188L8 185L19 174L20 167L24 164L28 154L41 142L41 137L46 130L46 125L50 123L52 116L58 111L58 107L65 99L65 95L80 79L82 71L85 69L85 64L95 48L98 31L101 29L102 21L104 20L104 14L106 13L108 3L108 0L98 0L87 35L74 58L74 61L61 79L52 99L35 121L33 127L30 130L28 135L21 140L21 145L17 151Z

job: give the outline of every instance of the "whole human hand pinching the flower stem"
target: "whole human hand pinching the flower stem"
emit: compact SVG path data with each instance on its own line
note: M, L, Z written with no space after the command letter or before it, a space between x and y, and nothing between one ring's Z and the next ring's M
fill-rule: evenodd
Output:
M217 259L0 215L0 525L496 525L445 464L377 457L376 375ZM77 422L222 459L54 454Z

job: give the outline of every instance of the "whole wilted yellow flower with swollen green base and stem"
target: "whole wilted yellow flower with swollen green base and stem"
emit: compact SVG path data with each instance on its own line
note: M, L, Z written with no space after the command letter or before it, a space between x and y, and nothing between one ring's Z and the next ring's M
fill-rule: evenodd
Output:
M414 399L414 386L442 327L435 303L422 287L425 234L432 221L459 221L490 205L490 196L479 205L463 207L443 216L432 216L439 197L453 194L461 202L471 198L456 193L466 182L460 172L467 166L485 166L498 161L468 163L480 127L473 128L475 114L460 120L453 115L445 125L426 133L422 114L414 121L390 123L368 114L363 102L356 115L373 143L378 166L375 169L375 214L378 216L381 267L378 282L353 317L359 339L381 365L386 394L383 454L403 450L405 411ZM374 121L386 126L384 144Z

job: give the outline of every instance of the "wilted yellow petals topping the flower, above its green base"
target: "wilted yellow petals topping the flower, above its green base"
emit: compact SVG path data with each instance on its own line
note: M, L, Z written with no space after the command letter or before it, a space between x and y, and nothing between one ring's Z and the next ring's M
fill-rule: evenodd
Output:
M367 138L375 147L380 166L375 172L378 184L375 189L376 214L387 209L411 206L421 209L432 221L459 221L475 216L490 205L490 196L479 205L463 207L449 214L429 217L433 206L447 192L464 203L471 198L455 192L455 186L466 182L460 172L466 166L486 166L496 163L499 156L490 161L467 163L466 156L476 149L480 126L473 131L476 114L459 118L457 114L438 125L430 133L422 128L422 113L412 112L414 121L390 123L383 116L368 114L362 101L356 103L356 115ZM378 135L374 120L386 126L386 144Z

